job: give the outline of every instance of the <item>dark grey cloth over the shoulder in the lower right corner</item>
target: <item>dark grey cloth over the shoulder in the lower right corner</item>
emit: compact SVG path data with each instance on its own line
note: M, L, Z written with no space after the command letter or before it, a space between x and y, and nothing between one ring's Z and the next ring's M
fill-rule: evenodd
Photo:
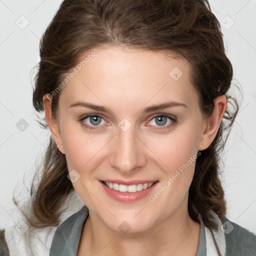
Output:
M244 227L222 218L222 230L225 233L226 255L255 256L256 255L256 234Z

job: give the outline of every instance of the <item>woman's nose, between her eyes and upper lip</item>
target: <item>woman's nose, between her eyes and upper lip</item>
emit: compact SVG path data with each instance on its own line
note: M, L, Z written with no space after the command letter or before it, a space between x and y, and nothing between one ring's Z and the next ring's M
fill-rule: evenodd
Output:
M112 141L110 164L123 175L139 170L146 163L145 144L132 127L123 131L117 127Z

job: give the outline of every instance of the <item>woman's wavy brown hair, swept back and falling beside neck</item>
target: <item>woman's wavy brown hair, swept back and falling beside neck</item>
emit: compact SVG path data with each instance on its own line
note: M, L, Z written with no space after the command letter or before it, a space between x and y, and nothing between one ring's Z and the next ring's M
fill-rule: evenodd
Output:
M55 90L61 75L74 67L84 52L102 44L170 51L184 57L191 65L191 82L205 116L212 113L213 99L219 95L226 95L232 106L226 108L213 142L200 151L189 187L190 217L198 222L200 213L204 224L215 229L209 210L219 218L226 214L219 179L220 152L238 111L237 100L227 95L233 70L222 36L207 0L64 0L40 40L33 106L43 111L43 95ZM60 93L52 96L54 116ZM47 128L45 118L38 122ZM74 190L67 174L65 155L50 135L39 184L33 179L31 185L31 212L35 216L28 218L31 225L59 224L61 206Z

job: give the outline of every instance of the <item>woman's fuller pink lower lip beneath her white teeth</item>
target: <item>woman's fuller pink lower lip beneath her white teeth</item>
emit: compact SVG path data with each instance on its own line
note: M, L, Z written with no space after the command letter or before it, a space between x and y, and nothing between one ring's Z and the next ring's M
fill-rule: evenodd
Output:
M105 192L112 197L115 200L121 201L121 202L133 202L133 201L138 201L142 198L144 198L146 195L148 195L152 190L154 189L156 181L154 184L152 184L149 188L143 189L141 191L137 192L120 192L117 190L114 190L112 188L109 188L105 184L103 184L101 181L99 181Z

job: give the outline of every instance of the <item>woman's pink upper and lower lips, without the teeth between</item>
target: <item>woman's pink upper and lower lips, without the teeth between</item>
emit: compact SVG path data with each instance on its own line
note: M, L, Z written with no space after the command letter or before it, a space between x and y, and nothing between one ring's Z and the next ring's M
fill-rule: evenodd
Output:
M134 202L134 201L138 201L138 200L144 198L146 195L148 195L149 193L152 192L152 190L158 183L158 180L157 181L156 180L153 180L153 181L150 181L150 180L123 181L123 180L107 179L107 180L98 180L98 181L108 196L110 196L111 198L113 198L117 201L121 201L121 202ZM102 181L124 184L124 185L133 185L133 184L149 183L149 182L154 182L154 184L152 184L149 188L131 193L131 192L120 192L120 191L114 190L112 188L109 188Z

